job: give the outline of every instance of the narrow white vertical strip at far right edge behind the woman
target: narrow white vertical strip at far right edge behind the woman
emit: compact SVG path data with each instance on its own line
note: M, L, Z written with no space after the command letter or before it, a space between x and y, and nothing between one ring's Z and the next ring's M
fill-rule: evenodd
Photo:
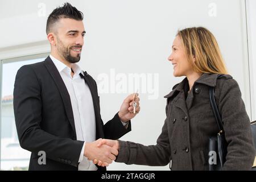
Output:
M256 120L256 1L246 0L247 35L249 50L251 119Z

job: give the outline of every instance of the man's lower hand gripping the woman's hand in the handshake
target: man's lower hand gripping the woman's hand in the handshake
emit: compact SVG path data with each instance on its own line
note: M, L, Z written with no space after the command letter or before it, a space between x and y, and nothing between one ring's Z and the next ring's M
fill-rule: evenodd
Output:
M86 156L88 160L101 160L102 164L109 166L109 164L116 159L115 156L118 155L118 150L116 146L111 147L111 145L106 145L101 141L102 139L100 138L94 142L86 142L84 156Z

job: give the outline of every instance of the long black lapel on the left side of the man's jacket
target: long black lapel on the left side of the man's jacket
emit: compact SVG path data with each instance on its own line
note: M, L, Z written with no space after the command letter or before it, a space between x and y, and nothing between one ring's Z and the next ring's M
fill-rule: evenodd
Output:
M50 75L52 76L52 79L55 81L57 88L59 89L60 96L63 100L65 111L67 113L68 121L70 122L76 136L75 121L74 121L73 110L72 110L72 105L71 105L71 100L69 97L68 90L64 84L64 81L60 76L59 71L57 70L57 68L55 67L55 64L52 62L49 56L46 58L45 65Z

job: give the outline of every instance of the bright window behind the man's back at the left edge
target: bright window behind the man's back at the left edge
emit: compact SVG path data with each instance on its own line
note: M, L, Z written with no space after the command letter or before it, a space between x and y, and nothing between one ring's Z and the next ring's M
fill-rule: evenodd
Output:
M45 54L34 55L1 61L1 170L28 169L30 152L20 147L15 126L13 110L14 81L20 67L44 61L46 56Z

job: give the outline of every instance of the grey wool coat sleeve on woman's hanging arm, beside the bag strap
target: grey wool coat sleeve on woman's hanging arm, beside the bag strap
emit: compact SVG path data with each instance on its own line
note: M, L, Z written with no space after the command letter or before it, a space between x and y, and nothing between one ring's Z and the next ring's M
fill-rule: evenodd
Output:
M218 102L228 142L228 154L223 169L250 170L255 158L255 149L250 119L236 80L224 81Z

